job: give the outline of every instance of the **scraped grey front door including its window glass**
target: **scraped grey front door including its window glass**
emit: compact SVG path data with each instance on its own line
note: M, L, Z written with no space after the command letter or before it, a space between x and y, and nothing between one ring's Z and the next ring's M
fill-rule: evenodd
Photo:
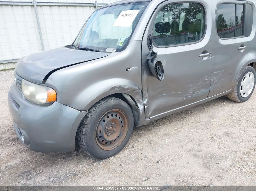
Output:
M162 3L151 18L142 43L142 60L147 60L148 36L152 35L153 50L163 65L164 79L155 78L148 63L142 62L146 118L157 118L207 98L212 46L209 43L211 21L206 20L211 19L211 13L206 13L205 6L168 1Z

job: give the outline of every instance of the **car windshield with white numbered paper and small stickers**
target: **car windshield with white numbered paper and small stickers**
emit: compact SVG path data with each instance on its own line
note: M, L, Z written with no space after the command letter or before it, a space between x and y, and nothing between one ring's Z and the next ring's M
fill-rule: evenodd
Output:
M73 47L111 53L124 50L148 4L128 3L95 11L82 27Z

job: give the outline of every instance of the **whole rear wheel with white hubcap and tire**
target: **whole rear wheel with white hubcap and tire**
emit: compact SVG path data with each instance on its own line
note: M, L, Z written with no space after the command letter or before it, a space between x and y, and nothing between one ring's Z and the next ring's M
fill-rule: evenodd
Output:
M240 103L247 101L254 91L255 77L255 69L251 66L246 66L238 76L234 89L228 94L228 98Z

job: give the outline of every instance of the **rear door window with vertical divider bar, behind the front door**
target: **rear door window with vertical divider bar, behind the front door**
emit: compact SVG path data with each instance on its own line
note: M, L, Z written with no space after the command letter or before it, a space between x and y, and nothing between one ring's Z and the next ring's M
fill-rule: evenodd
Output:
M220 38L242 37L244 35L244 5L221 4L217 8L216 26Z

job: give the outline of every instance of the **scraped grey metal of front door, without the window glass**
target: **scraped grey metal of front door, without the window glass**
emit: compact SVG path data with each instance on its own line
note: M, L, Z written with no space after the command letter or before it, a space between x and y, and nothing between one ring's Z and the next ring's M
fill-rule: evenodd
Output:
M150 53L147 47L147 37L152 33L154 21L158 11L172 1L164 2L151 18L142 42L142 83L143 98L146 106L146 118L154 118L170 110L197 102L207 98L210 92L212 55L199 57L204 53L211 53L211 10L205 1L199 1L205 7L206 32L198 43L183 46L158 47L157 59L163 64L165 78L156 79L148 68L146 55ZM204 56L204 55L203 55Z

